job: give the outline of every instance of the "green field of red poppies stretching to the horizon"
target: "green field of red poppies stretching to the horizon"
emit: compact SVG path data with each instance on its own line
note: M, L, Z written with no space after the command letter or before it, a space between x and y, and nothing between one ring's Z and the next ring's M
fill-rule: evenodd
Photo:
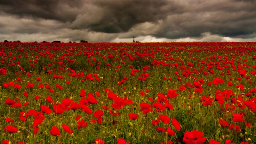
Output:
M256 43L0 43L0 142L256 144Z

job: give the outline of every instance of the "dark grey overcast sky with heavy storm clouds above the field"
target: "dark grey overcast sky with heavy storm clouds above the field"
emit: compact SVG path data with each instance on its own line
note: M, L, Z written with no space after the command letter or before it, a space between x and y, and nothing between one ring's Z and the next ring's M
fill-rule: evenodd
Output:
M256 41L256 0L1 0L0 41Z

